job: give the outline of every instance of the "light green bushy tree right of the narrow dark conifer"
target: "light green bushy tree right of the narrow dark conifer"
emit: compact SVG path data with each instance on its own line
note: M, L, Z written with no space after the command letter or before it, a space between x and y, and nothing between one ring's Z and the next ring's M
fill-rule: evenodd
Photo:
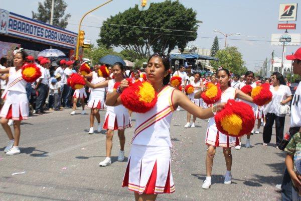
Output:
M223 50L218 50L216 58L219 62L212 62L212 66L217 69L222 66L223 68L229 69L232 73L242 75L248 69L244 66L244 61L242 60L242 54L238 51L237 47L226 47Z

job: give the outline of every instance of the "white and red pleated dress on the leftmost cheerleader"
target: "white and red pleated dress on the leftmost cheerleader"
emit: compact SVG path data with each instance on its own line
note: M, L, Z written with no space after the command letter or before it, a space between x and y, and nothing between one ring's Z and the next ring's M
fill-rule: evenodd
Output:
M11 67L7 88L3 93L3 98L6 101L0 112L0 117L16 121L28 119L26 83L22 77L21 69L16 71L16 67Z

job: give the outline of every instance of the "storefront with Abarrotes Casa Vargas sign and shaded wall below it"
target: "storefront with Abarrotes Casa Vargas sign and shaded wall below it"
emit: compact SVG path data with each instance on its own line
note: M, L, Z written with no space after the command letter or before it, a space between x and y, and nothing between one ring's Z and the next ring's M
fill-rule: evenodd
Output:
M68 58L74 54L77 33L2 9L0 23L0 57L10 58L16 47L35 57L49 48L61 50Z

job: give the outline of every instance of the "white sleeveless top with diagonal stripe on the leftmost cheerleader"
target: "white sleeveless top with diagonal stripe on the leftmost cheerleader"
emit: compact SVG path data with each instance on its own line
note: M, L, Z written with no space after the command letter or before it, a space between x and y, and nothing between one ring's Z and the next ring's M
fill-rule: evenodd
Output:
M10 76L7 84L8 91L19 91L26 93L26 81L22 77L21 68L16 71L16 67L10 68Z

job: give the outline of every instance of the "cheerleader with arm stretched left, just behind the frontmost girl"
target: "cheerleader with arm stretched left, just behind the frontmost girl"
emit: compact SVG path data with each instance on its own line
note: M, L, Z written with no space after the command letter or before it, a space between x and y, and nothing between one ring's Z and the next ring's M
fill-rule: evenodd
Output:
M124 66L120 62L114 63L112 67L112 72L114 75L114 79L105 80L101 83L90 83L85 79L87 86L91 88L103 88L108 87L108 94L114 91L114 84L116 82L120 82L124 79L123 77ZM125 137L124 137L124 130L126 128L131 127L130 117L128 115L128 111L123 106L107 106L107 112L105 114L105 122L103 124L103 129L107 130L106 133L106 158L99 163L99 166L107 166L111 164L111 151L113 145L113 135L114 131L118 131L118 137L120 142L120 151L117 160L123 161L124 160L124 144L125 144Z

